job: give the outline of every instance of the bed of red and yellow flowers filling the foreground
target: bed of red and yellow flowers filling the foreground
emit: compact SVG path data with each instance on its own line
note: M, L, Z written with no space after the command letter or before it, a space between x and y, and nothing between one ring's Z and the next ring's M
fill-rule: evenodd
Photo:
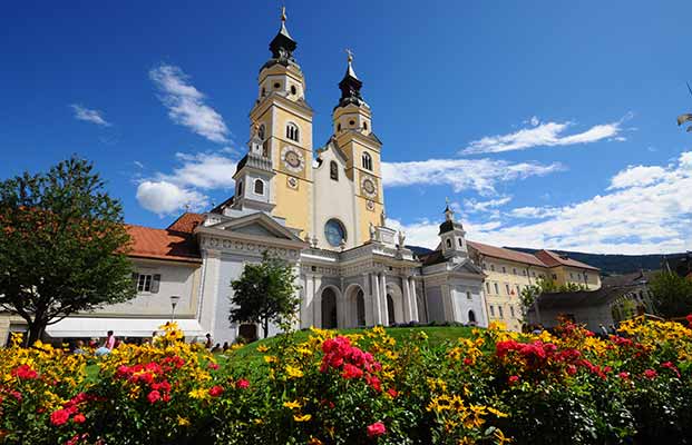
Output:
M213 356L174 326L121 345L89 376L85 355L0 349L0 443L684 443L692 434L692 330L632 320L598 339L572 324L494 326L431 346L412 329L250 345L263 363Z

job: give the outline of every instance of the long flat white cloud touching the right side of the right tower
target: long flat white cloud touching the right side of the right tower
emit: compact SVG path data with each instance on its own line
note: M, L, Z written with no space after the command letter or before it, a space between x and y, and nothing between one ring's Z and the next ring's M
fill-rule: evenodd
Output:
M450 185L456 192L476 190L495 192L497 182L545 176L564 170L558 162L509 162L491 159L428 159L410 162L382 162L382 180L387 187L413 185Z

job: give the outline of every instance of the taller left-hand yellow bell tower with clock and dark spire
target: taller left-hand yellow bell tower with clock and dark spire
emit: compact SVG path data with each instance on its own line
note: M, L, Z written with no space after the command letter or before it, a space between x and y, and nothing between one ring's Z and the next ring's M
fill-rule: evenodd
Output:
M271 57L260 69L259 90L250 118L274 176L270 201L272 215L286 225L312 233L312 108L305 101L305 78L293 52L298 43L286 29L285 8L281 28L270 42Z

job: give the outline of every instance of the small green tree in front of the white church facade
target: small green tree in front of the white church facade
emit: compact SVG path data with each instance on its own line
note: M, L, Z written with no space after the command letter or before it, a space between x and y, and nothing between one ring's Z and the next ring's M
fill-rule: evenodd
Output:
M280 258L262 254L262 263L247 264L241 277L231 283L231 323L260 323L264 338L270 322L287 325L295 317L300 297L293 267Z

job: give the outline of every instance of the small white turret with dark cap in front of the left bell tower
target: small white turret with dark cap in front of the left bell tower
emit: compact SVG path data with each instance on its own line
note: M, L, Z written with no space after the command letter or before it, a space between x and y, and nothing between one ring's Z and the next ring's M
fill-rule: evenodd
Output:
M247 142L247 155L241 159L233 175L235 180L233 208L271 212L274 209L271 194L274 169L266 147L260 139L259 130L260 126L255 123Z

